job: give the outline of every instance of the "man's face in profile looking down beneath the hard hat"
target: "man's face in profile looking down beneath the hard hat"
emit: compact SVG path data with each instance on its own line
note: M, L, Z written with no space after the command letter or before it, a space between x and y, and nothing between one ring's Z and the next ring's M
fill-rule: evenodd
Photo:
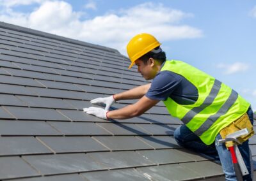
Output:
M138 67L138 72L145 78L145 80L153 79L157 71L154 68L154 59L150 58L146 63L138 59L135 61L136 66Z

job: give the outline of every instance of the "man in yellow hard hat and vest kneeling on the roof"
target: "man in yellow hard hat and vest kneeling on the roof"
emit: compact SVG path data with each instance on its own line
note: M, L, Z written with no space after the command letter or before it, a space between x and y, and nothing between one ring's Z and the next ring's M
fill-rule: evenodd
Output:
M84 112L102 119L129 119L147 112L159 101L163 101L168 112L184 123L174 132L177 143L196 152L218 154L226 180L236 180L230 152L224 143L218 144L217 140L223 136L221 131L231 124L239 124L236 127L241 129L245 123L252 126L253 112L250 103L203 71L185 62L166 60L160 45L151 34L134 36L127 45L127 54L131 60L129 69L136 64L143 78L152 80L152 83L106 98L93 99L91 103L103 103L106 108L84 108ZM124 99L139 100L124 108L109 111L115 101ZM241 121L243 116L246 118ZM252 132L253 129L253 135ZM249 175L243 178L252 180L252 155L248 139L239 145L239 150L249 171Z

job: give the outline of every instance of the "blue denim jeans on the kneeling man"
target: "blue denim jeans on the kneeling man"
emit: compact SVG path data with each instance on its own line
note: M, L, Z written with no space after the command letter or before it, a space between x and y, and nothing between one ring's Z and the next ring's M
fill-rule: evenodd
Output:
M249 108L247 114L250 118L250 121L253 124L253 112ZM174 131L174 138L179 143L180 146L194 150L195 152L200 152L206 154L207 156L220 158L221 166L223 172L225 173L226 180L237 180L236 173L234 171L234 166L232 163L230 152L227 150L225 143L218 145L217 140L221 139L220 133L215 138L215 143L211 145L205 145L195 133L190 131L186 125L178 127ZM244 141L242 145L238 146L239 151L244 159L246 168L249 171L249 175L243 177L244 180L252 180L253 177L253 166L252 166L252 154L249 148L249 141Z

